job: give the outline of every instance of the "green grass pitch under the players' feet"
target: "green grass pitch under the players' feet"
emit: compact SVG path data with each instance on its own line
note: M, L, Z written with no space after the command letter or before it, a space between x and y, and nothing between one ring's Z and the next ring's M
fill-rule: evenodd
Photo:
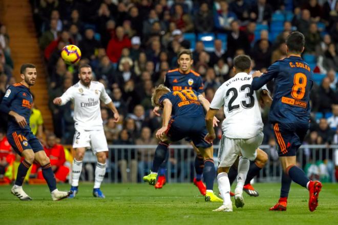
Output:
M94 198L92 186L80 183L75 199L56 202L46 185L25 186L32 201L20 201L9 186L0 186L1 224L338 224L335 184L324 183L319 207L312 213L307 190L295 184L286 212L268 211L278 200L280 184L257 183L260 196L244 193L244 208L233 204L233 213L212 212L221 203L205 202L191 183L167 184L162 190L146 184L104 184L105 199ZM58 185L58 189L68 190L69 186Z

